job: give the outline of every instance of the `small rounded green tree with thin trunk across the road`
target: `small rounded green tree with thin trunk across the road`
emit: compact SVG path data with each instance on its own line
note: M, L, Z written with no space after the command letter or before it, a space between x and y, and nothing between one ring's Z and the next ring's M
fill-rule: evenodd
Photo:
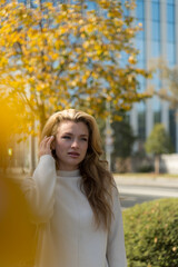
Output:
M148 154L155 155L155 172L159 174L160 155L172 152L172 145L164 125L155 125L151 134L146 140L145 148Z

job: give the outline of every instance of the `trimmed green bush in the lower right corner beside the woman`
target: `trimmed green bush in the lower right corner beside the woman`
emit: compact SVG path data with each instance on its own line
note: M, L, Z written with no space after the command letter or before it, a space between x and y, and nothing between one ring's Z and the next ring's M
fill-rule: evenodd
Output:
M178 198L123 211L128 267L178 267Z

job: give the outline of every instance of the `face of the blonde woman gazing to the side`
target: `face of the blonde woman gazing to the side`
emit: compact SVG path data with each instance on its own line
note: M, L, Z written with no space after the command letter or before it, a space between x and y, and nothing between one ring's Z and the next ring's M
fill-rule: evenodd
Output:
M61 121L53 144L60 170L75 170L85 159L89 130L83 122Z

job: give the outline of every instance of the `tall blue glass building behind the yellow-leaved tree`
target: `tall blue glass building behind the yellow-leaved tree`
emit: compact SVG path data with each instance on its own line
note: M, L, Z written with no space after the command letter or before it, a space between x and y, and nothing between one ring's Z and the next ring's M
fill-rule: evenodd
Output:
M123 1L122 1L123 2ZM142 31L136 37L136 46L140 50L138 66L149 69L154 59L162 58L169 67L178 63L178 1L177 0L136 0L134 16L142 23ZM164 87L158 73L152 80L140 79L140 90ZM157 96L145 102L135 103L130 112L130 123L139 137L136 150L146 140L157 122L165 125L178 152L178 121L176 110Z

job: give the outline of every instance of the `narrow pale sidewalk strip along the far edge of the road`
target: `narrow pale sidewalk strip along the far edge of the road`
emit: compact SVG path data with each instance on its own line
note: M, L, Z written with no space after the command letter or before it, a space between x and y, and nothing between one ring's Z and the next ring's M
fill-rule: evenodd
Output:
M154 187L166 187L166 188L177 188L178 190L178 177L141 177L137 176L127 176L127 175L113 175L118 185L137 185L137 186L154 186Z

